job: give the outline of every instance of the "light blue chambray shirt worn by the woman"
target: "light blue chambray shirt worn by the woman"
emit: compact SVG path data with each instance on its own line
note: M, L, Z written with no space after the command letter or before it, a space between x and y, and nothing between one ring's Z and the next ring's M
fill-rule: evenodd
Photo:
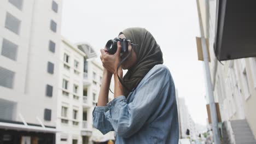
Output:
M127 99L120 95L107 106L96 106L94 127L115 131L116 143L178 143L175 87L170 71L155 65Z

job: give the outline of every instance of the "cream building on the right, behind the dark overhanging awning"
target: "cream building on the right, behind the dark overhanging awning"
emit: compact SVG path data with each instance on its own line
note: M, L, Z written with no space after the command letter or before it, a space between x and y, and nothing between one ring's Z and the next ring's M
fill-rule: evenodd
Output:
M214 99L219 103L220 115L229 136L236 141L246 133L247 142L256 139L256 59L241 58L218 62L214 55L214 42L216 40L216 10L217 1L199 1L203 32L208 39L210 52L210 71L213 83ZM202 30L202 29L201 29ZM234 33L235 34L235 33ZM230 39L231 40L231 39ZM232 41L230 41L232 43ZM232 127L230 126L232 125ZM236 129L243 125L247 131ZM232 129L233 128L233 129ZM238 135L232 133L240 132ZM242 134L243 133L243 134ZM240 137L243 139L245 137ZM245 143L242 141L242 143Z

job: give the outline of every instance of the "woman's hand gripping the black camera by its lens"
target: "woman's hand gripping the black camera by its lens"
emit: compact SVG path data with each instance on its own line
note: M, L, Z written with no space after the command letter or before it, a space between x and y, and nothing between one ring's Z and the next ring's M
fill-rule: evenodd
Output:
M120 41L118 41L118 47L117 52L114 53L114 55L109 55L107 52L107 49L101 49L101 62L103 67L108 70L112 74L117 74L117 68L118 64L121 61L120 52L121 52L121 44ZM121 66L119 67L118 73L120 73ZM123 74L123 73L122 73Z

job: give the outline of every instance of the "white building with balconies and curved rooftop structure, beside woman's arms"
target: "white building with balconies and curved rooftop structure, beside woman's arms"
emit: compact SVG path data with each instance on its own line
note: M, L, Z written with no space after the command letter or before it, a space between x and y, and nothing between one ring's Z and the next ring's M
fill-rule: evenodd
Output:
M100 92L103 75L103 67L100 63L95 61L94 57L96 56L96 53L90 45L78 44L78 48L86 53L86 56L84 57L83 70L83 144L92 143L92 141L114 139L114 132L110 132L109 134L103 136L100 131L92 126L92 111L94 110L98 100L98 93ZM113 99L113 94L109 93L109 100L111 99Z

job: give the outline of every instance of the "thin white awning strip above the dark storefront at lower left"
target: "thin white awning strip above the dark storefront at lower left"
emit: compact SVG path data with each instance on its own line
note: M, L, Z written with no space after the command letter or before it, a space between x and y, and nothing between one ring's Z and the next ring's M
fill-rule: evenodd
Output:
M24 125L24 124L15 124L15 123L4 123L0 122L1 129L11 129L11 130L24 130L24 131L37 131L44 133L57 133L60 132L56 128L40 127L34 125Z

